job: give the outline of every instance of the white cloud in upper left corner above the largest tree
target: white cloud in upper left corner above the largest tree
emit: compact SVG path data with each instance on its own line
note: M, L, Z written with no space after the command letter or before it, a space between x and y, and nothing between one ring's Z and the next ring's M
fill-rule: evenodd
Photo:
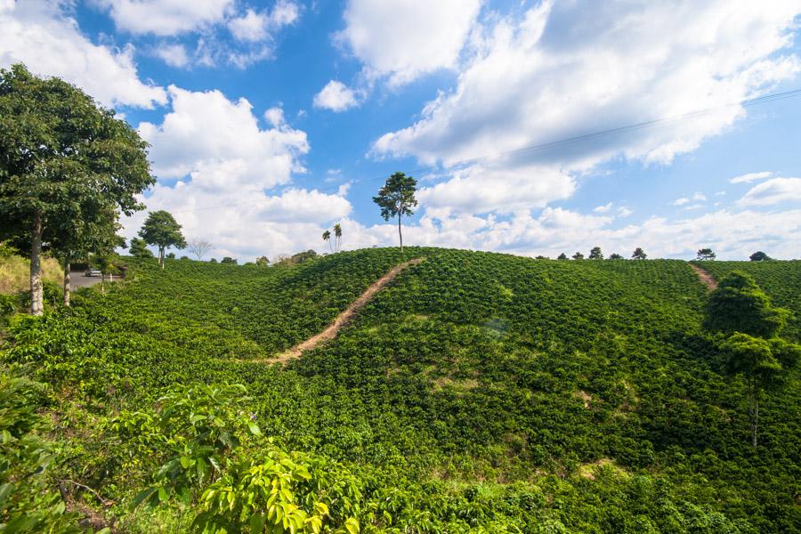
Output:
M93 44L54 1L0 4L0 66L18 61L36 74L80 86L106 106L152 108L166 103L162 87L139 78L133 47Z

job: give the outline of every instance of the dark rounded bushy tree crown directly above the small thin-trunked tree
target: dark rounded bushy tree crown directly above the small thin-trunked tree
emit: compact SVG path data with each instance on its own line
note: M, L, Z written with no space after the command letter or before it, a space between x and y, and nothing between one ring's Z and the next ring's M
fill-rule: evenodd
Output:
M704 328L732 335L773 337L787 324L789 311L773 308L765 292L745 272L732 271L709 295Z

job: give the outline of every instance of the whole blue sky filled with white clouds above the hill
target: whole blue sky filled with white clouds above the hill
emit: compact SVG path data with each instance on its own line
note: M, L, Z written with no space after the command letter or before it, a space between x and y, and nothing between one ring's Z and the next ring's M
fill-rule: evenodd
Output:
M754 101L801 88L798 0L0 0L18 61L117 109L216 257L397 245L395 171L406 244L801 257L801 96Z

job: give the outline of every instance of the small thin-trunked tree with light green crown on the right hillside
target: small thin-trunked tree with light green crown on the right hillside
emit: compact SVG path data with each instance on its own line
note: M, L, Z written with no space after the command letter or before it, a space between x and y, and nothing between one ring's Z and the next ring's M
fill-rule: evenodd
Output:
M781 339L765 340L740 332L723 345L724 370L729 376L742 376L748 392L751 443L756 449L759 401L765 392L781 389L801 359L801 345Z

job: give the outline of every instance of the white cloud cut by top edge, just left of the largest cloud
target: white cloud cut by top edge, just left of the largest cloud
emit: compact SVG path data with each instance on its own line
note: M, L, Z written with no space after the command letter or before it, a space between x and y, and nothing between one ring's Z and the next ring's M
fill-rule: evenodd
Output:
M370 78L406 84L455 67L481 0L350 0L337 40L365 64Z

